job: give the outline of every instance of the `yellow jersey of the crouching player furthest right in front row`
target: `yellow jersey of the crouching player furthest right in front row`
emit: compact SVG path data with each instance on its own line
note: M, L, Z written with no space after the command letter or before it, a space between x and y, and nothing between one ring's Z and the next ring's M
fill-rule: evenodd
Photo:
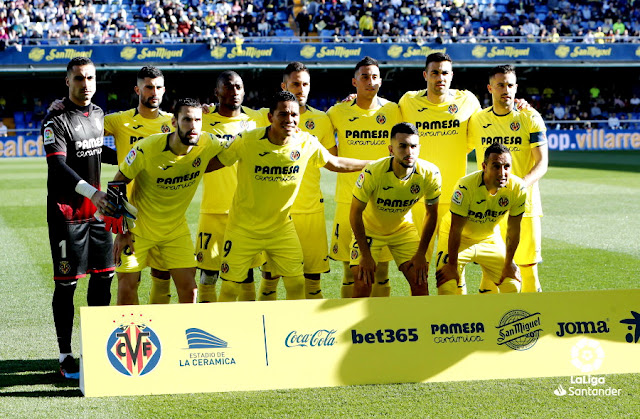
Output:
M480 242L500 234L498 223L507 213L514 217L524 213L527 190L522 179L510 175L507 185L491 195L483 174L479 170L458 180L451 196L451 212L442 219L444 231L449 231L453 213L467 219L462 237Z

